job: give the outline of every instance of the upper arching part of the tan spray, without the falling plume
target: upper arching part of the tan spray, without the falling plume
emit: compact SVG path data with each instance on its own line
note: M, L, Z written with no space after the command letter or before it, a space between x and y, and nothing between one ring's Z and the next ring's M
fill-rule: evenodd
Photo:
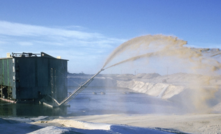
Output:
M201 66L201 68L211 69L211 72L219 70L221 68L221 64L219 62L216 62L216 64L214 65L210 64L210 62L212 63L212 60L204 57L200 50L195 51L189 47L185 47L186 43L186 41L177 39L177 37L164 35L146 35L136 37L117 47L107 58L103 68L122 53L127 52L128 54L130 54L130 52L141 50L144 54L136 53L134 56L131 56L130 58L120 61L119 63L116 63L109 67L129 61L135 61L141 58L172 56L178 57L180 59L188 59L190 62L193 62L195 66ZM204 62L206 60L210 60L209 63Z

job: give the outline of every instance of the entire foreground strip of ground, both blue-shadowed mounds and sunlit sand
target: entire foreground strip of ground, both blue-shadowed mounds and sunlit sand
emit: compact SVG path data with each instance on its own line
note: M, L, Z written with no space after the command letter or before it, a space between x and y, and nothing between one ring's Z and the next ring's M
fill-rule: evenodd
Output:
M163 134L169 132L181 133L181 131L196 134L221 133L221 114L93 115L3 118L0 120L1 133Z

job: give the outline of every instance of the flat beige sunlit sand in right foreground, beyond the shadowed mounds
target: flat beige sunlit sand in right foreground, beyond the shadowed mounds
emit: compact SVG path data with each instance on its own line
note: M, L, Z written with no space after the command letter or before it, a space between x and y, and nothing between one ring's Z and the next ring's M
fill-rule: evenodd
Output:
M77 120L126 124L137 127L168 128L187 133L221 133L220 114L198 115L101 115L77 117Z

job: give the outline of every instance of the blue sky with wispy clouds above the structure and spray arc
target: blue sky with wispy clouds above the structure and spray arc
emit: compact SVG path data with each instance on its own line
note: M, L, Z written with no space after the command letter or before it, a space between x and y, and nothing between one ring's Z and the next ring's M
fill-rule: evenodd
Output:
M188 46L221 48L220 0L1 0L0 57L45 52L71 73L96 73L121 43L172 35Z

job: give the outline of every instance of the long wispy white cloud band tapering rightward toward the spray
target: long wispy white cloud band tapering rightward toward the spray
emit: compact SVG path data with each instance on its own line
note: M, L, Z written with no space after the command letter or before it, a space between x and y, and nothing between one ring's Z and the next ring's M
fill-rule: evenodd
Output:
M109 46L110 44L122 43L125 41L123 39L105 37L99 33L49 28L7 21L0 21L0 36L6 36L6 38L13 40L24 40L23 42L51 42L49 44L54 43L55 45L70 45L73 43L80 43L81 45L84 45L87 43L88 46L91 44Z

